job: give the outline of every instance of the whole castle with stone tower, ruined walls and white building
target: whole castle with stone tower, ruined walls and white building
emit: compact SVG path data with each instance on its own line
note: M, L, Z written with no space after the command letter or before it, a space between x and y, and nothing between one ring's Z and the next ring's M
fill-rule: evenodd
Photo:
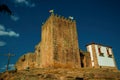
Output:
M26 68L117 68L112 47L97 43L79 49L76 21L51 14L42 25L41 42L34 53L24 54L15 64Z

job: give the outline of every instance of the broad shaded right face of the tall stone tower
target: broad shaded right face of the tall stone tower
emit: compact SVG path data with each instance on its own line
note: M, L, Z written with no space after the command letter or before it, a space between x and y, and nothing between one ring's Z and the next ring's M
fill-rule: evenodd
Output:
M55 63L69 67L80 67L76 23L64 17L53 20L54 60Z

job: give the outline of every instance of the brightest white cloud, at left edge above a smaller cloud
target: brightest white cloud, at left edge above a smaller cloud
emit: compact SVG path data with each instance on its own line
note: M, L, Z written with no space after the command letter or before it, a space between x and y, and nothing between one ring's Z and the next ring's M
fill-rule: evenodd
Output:
M6 31L5 27L0 24L0 36L10 36L10 37L19 37L19 33L16 33L15 31Z

